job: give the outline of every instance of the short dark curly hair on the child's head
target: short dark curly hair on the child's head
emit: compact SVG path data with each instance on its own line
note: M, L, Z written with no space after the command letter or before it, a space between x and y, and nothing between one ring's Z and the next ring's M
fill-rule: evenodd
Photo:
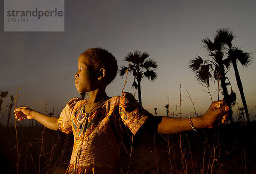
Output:
M106 85L115 79L118 70L117 61L108 50L97 47L88 48L82 54L92 63L94 71L98 71L100 68L105 69Z

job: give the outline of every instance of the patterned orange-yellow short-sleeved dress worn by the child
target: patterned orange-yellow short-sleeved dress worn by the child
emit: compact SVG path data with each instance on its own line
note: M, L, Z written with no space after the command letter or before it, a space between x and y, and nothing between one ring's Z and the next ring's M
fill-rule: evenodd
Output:
M135 135L150 114L130 93L106 100L88 115L87 100L73 98L61 112L58 128L73 132L74 146L66 174L118 174L124 125Z

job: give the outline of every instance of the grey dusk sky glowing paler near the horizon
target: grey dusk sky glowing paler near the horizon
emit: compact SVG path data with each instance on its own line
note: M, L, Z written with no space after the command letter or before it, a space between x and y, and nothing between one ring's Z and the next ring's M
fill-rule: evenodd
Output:
M87 2L87 3L86 3ZM4 1L0 1L1 16ZM117 59L118 66L130 51L147 51L157 61L158 78L154 83L142 81L143 107L154 114L165 115L163 106L170 98L170 111L176 113L180 104L183 116L193 112L186 92L195 103L197 112L204 113L211 101L207 88L197 83L189 68L189 61L201 56L208 59L202 47L204 37L213 39L219 28L233 29L233 45L252 52L253 62L248 68L240 65L239 73L249 111L256 106L256 1L255 0L96 0L65 1L64 32L4 32L0 17L0 91L15 94L27 93L18 98L18 106L29 106L43 112L47 101L48 111L79 96L74 83L79 54L91 47L108 49ZM234 70L227 73L232 89L237 93L237 103L242 106ZM131 88L132 74L128 74L125 91ZM106 91L108 96L120 95L125 79L119 75ZM212 94L217 83L210 82ZM205 90L205 91L204 91ZM230 90L230 86L228 86ZM137 93L135 94L136 98ZM166 97L167 96L167 97ZM218 99L217 92L213 100ZM4 99L4 104L9 97ZM233 109L237 115L237 105ZM252 111L255 115L255 111ZM55 114L56 117L57 114ZM235 119L236 120L236 119Z

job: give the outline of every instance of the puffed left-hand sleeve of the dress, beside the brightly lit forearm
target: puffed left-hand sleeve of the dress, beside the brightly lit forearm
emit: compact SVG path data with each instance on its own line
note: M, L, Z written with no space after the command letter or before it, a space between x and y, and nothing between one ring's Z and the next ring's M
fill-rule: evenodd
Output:
M65 134L70 134L72 132L71 114L74 106L79 100L82 99L78 97L71 99L67 103L66 107L61 111L61 115L58 118L58 128Z

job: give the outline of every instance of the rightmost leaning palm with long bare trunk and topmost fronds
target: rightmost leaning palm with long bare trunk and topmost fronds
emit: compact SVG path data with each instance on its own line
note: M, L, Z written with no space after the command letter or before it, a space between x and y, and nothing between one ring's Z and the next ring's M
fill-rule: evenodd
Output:
M245 111L247 120L250 121L248 108L247 108L246 100L244 97L244 90L243 90L241 78L240 78L236 63L239 61L243 67L248 67L250 65L251 59L252 59L252 57L250 56L251 53L244 52L244 51L240 50L239 48L232 46L232 41L235 38L235 36L232 33L232 30L229 31L229 29L218 29L217 33L218 33L217 39L219 40L219 42L228 46L227 58L233 65L235 75L236 75L236 83L239 88L241 100L242 100L242 103L244 106L244 111Z

